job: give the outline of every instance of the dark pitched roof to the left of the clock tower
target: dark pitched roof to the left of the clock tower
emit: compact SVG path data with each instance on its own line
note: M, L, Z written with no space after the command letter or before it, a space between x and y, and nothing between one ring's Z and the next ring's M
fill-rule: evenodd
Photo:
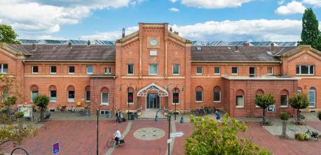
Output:
M25 61L115 61L114 45L15 45L27 50Z

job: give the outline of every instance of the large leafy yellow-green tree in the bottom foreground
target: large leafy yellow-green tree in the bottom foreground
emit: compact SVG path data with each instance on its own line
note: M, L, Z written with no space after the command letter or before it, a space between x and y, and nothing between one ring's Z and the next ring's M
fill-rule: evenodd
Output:
M238 138L238 132L245 132L247 127L228 115L221 123L210 117L191 116L191 124L193 133L185 140L186 154L271 154L248 139Z

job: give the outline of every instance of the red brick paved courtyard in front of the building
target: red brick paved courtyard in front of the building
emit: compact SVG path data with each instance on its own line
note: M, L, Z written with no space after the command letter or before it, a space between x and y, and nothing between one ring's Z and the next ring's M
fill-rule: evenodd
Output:
M186 116L187 117L187 116ZM52 154L54 142L60 142L60 154L95 154L96 152L96 121L95 117L88 120L57 120L46 122L39 128L38 134L23 141L19 147L27 149L29 154ZM242 119L241 119L242 120ZM252 120L252 121L250 121ZM186 120L188 121L188 119ZM299 142L297 140L281 140L269 131L268 127L260 126L256 119L247 119L247 131L240 136L250 138L257 145L265 147L273 154L321 154L321 140L315 142ZM278 124L278 123L277 123ZM307 126L321 131L321 121L308 121ZM168 121L160 119L136 119L117 124L114 120L100 118L100 154L166 154L168 152ZM120 128L125 137L123 147L107 147L115 128ZM172 154L184 154L184 139L191 135L193 126L186 122L181 124L172 121L172 131L183 131L182 138L175 138L170 146ZM278 128L278 126L276 126ZM9 153L14 147L7 146ZM18 153L18 152L17 152Z

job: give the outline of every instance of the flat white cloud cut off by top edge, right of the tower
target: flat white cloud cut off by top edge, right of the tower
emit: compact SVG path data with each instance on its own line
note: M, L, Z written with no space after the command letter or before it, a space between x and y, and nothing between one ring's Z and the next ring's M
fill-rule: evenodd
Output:
M235 8L253 0L180 0L182 4L195 8Z

